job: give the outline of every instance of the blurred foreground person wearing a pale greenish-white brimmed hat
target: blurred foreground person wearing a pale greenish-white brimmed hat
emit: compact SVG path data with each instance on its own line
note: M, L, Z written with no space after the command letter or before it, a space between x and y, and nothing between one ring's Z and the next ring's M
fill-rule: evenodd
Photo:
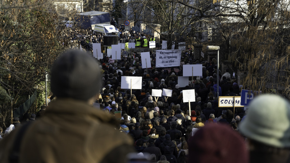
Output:
M276 95L256 97L239 129L248 137L251 163L289 162L289 101Z

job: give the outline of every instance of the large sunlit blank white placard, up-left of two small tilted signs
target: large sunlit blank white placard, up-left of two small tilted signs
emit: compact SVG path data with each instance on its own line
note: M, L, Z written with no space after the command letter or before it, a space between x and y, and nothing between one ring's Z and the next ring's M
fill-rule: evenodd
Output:
M132 79L132 83L131 83ZM122 89L142 89L142 77L139 76L122 76L121 88Z

